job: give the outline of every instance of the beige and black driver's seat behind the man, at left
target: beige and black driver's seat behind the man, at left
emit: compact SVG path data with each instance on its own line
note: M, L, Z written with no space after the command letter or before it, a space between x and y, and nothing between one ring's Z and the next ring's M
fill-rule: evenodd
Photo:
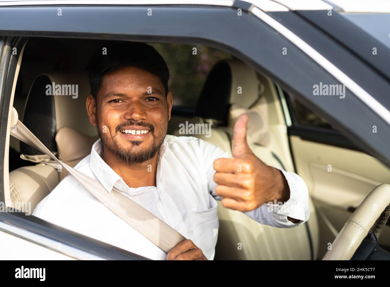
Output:
M48 87L73 86L76 95L48 95ZM62 86L61 86L62 87ZM76 89L77 87L77 89ZM65 91L65 90L64 90ZM46 93L47 92L47 93ZM49 73L35 78L27 96L21 121L60 160L75 166L90 153L97 140L97 130L89 123L85 100L90 93L86 73ZM22 111L19 111L20 114ZM58 141L58 144L56 142ZM21 157L36 162L9 173L13 202L31 201L31 212L67 175L66 169L57 169L47 155L20 143Z

